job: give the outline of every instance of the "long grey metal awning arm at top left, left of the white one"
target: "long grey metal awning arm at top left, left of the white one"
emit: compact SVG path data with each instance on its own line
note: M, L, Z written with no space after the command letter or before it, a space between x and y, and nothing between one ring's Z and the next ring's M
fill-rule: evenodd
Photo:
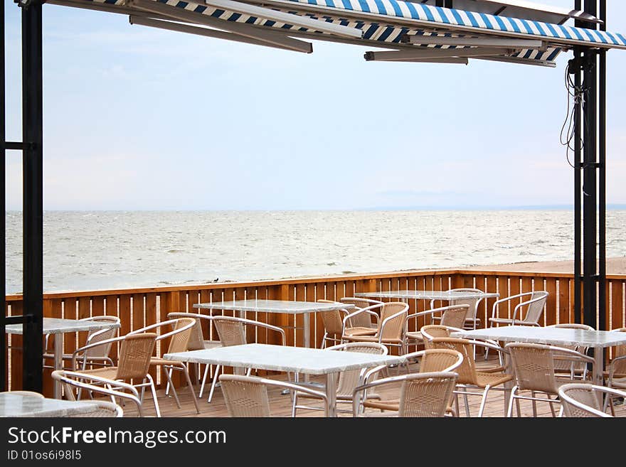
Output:
M252 38L255 41L277 45L282 48L289 48L291 50L298 50L306 53L311 46L311 44L307 42L285 36L285 33L287 33L286 30L283 30L285 33L270 31L269 28L267 28L266 31L262 28L253 28L248 24L237 23L235 21L223 21L221 19L212 18L208 15L193 13L193 11L186 11L181 8L176 8L175 6L168 6L149 0L129 0L127 4L136 9L159 14L168 19L209 26L211 28L220 29L221 31L228 31L240 36Z

